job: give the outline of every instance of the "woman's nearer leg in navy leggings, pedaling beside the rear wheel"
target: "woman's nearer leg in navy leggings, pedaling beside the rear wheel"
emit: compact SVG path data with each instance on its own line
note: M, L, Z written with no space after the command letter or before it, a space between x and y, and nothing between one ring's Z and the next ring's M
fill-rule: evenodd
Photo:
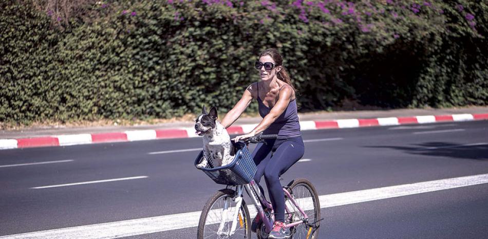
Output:
M287 139L278 146L266 165L265 179L277 222L285 221L285 197L279 176L302 158L304 152L302 137Z

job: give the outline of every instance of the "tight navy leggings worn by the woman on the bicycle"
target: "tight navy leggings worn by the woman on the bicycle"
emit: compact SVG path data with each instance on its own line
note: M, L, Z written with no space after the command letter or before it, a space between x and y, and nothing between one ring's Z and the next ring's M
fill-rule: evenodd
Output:
M254 181L259 185L262 175L265 176L275 220L284 222L285 197L279 176L302 158L305 152L303 139L302 136L298 136L288 139L266 140L266 142L267 144L259 143L252 154L257 165Z

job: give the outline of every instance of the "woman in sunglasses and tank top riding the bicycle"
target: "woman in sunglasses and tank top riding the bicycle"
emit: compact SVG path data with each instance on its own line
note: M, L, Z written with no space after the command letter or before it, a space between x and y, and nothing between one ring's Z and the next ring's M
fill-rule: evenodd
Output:
M235 137L235 141L253 137L261 132L276 134L277 139L259 143L252 157L257 166L254 181L259 184L265 176L269 197L273 205L275 223L268 238L286 238L285 198L279 176L302 158L305 148L298 121L295 89L277 49L270 48L259 55L255 63L261 80L248 86L242 98L220 122L224 127L231 126L245 111L253 99L259 105L261 122L250 133ZM262 190L262 188L261 188ZM259 215L254 218L252 231L260 223Z

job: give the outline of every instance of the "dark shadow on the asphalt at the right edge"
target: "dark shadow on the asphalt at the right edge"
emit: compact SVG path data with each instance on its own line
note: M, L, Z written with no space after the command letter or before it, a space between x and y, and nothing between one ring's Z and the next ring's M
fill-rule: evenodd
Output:
M488 160L488 142L455 144L446 142L427 142L414 146L366 146L367 148L388 148L401 150L408 154L440 156L474 160Z

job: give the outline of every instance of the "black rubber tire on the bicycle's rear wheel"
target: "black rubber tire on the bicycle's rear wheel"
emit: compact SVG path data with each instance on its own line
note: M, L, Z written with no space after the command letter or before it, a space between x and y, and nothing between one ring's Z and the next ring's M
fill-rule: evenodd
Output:
M298 187L304 188L306 191L308 191L309 195L305 195L305 192L301 192L301 190L298 189ZM294 228L294 232L291 235L290 239L316 239L318 237L318 226L320 226L320 201L318 199L318 194L317 191L315 190L315 187L312 185L312 183L305 178L297 178L292 180L290 183L288 183L287 190L290 194L295 196L295 201L297 201L298 206L300 206L308 215L309 217L309 222L315 223L315 226L317 228L312 228L311 231L311 236L307 238L307 233L309 230L309 227L305 224L300 224ZM295 190L295 191L293 191ZM310 196L310 199L308 197ZM297 198L307 198L304 200L297 200ZM288 200L288 198L286 198ZM310 205L312 204L312 209L303 208L305 205ZM292 216L292 221L289 223L293 223L295 221L296 217Z

